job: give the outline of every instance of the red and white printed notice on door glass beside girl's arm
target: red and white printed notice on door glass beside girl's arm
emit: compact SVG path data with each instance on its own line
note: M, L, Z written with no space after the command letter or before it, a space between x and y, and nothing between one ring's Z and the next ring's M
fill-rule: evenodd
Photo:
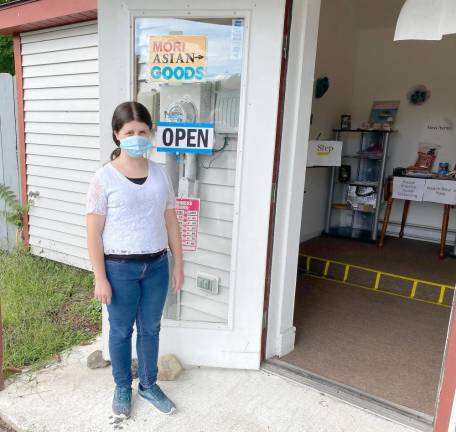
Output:
M176 198L176 214L184 251L196 251L198 248L199 212L199 198Z

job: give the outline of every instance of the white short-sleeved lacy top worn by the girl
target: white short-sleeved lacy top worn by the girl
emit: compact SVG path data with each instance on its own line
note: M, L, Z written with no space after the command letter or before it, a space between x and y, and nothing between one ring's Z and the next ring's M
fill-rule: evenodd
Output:
M143 184L128 180L111 163L100 167L87 192L86 213L105 215L105 254L154 253L168 246L165 210L175 207L165 169L153 161Z

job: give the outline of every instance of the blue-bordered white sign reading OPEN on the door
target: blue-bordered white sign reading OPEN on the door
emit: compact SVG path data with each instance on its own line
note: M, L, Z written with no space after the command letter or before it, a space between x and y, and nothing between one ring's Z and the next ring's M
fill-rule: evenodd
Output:
M212 123L158 122L157 151L173 153L212 154L214 125Z

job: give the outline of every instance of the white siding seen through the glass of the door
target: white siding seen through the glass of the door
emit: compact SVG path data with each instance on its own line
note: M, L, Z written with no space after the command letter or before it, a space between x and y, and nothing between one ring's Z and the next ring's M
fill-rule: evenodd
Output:
M139 91L147 91L144 67L140 65ZM215 147L224 144L216 134ZM163 153L151 158L165 164ZM185 281L178 301L170 301L165 317L183 321L226 323L230 302L230 273L235 199L237 140L230 137L226 149L216 156L199 156L198 180L201 199L198 250L184 254ZM219 293L208 294L197 288L197 273L219 278ZM171 300L171 299L169 299ZM178 310L176 310L178 307Z

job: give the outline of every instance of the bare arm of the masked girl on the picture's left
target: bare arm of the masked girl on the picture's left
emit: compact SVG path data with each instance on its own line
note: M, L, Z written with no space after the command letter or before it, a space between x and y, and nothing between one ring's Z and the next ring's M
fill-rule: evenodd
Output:
M87 215L87 246L95 275L94 297L105 304L111 303L112 290L106 277L103 251L103 227L106 216L90 213Z

